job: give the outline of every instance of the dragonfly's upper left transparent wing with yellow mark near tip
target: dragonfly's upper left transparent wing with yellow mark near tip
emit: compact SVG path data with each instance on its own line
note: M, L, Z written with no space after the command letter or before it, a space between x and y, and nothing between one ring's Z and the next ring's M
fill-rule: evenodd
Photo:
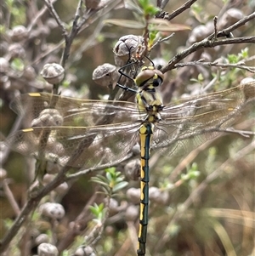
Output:
M90 127L106 123L142 120L132 102L111 100L78 100L46 93L22 94L10 107L26 118L29 127Z

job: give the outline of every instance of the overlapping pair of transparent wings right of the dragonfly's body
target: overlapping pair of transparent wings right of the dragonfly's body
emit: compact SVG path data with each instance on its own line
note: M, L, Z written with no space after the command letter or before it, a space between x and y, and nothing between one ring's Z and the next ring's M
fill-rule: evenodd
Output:
M255 82L179 101L161 112L152 149L183 155L229 128L255 102Z

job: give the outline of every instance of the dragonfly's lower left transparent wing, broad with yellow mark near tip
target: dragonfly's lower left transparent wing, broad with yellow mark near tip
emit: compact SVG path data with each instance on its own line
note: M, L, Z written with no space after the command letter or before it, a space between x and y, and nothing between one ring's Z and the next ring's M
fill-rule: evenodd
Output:
M77 168L110 167L138 141L139 123L98 127L43 127L8 136L14 151Z

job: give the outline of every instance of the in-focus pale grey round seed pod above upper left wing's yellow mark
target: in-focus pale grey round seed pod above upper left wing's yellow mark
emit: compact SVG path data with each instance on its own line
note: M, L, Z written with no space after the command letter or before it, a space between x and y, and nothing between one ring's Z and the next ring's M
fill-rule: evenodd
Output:
M43 66L41 75L48 83L56 84L64 79L65 69L62 65L50 63Z

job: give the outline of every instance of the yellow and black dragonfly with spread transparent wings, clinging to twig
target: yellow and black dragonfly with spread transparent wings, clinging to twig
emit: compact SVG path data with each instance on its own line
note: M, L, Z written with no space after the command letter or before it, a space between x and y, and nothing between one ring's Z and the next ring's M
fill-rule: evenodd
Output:
M73 168L108 168L140 144L140 213L137 255L145 255L149 212L150 151L189 152L224 132L254 108L255 80L235 88L163 105L164 75L154 65L132 78L136 102L78 100L47 93L21 94L10 107L29 128L9 135L14 151ZM242 132L241 134L244 134Z

